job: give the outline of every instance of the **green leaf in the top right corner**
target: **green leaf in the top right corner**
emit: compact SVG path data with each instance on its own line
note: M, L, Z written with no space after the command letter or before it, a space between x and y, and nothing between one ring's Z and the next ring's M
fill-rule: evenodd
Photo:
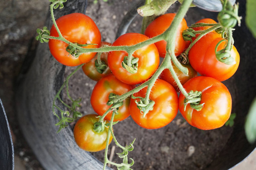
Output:
M247 0L246 1L246 16L245 23L247 27L250 29L254 38L256 39L256 1L255 0Z

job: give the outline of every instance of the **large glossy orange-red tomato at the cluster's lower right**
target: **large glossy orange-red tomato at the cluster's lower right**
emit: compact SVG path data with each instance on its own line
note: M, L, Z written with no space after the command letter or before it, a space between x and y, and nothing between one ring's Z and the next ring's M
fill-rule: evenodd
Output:
M196 111L187 105L184 111L184 95L179 95L179 111L186 121L202 130L211 130L220 128L228 121L231 109L232 99L226 86L216 79L207 76L196 76L188 80L183 87L187 92L201 91L201 101L203 104L201 111Z

